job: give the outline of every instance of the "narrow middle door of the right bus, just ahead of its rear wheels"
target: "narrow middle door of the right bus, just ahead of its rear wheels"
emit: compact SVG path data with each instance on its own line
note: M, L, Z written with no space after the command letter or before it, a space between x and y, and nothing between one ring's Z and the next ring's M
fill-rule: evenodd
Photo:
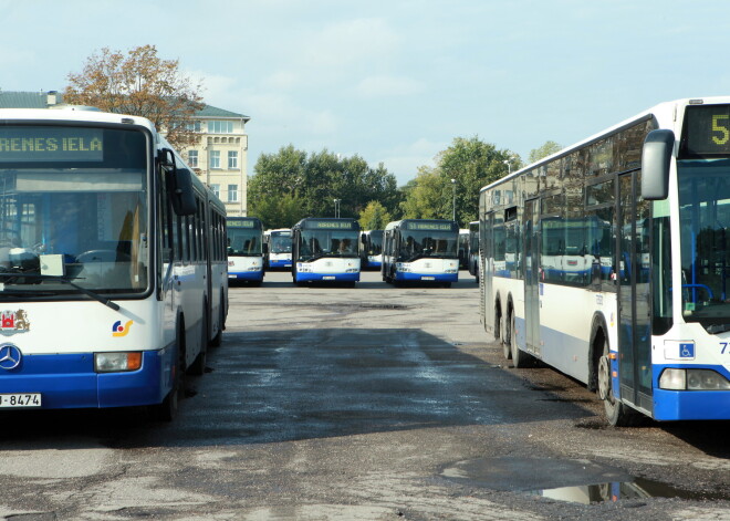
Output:
M522 240L524 251L524 320L525 348L540 356L540 199L524 202Z

